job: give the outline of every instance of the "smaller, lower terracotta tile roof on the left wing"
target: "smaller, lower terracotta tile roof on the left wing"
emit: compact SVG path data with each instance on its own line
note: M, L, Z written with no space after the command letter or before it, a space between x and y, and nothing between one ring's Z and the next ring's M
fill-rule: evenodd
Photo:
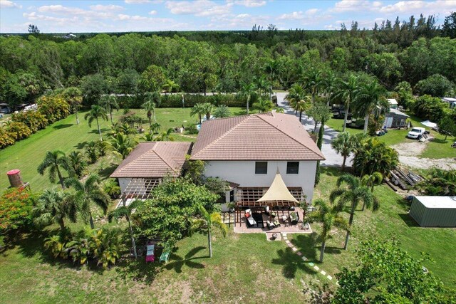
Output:
M141 142L110 177L179 176L191 142Z

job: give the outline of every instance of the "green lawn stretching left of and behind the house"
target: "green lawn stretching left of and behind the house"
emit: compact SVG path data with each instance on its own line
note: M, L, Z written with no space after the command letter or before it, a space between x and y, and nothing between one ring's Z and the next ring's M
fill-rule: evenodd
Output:
M232 115L243 113L242 108L230 108ZM147 120L145 110L132 110ZM161 130L165 131L170 127L180 127L191 122L197 122L197 117L190 117L190 108L162 108L156 110L157 122L162 125ZM15 145L0 150L0 191L9 187L6 172L11 169L20 169L21 177L24 182L31 184L33 191L41 191L51 186L47 175L41 176L36 172L38 164L43 161L47 151L61 150L68 154L73 150L83 150L87 142L98 140L98 130L94 122L92 127L83 119L85 112L79 113L80 124L76 125L75 115L70 115L63 120L49 125L44 130L40 130L31 137L16 142ZM115 119L120 117L123 111L114 112ZM145 122L145 127L147 122ZM110 130L110 122L100 121L100 127L105 134L103 138L109 140L106 134ZM181 136L172 135L175 140L193 141L196 135ZM139 136L138 136L139 137ZM106 164L109 166L110 164ZM116 164L112 164L111 167ZM105 169L105 168L103 168ZM112 168L111 168L112 169Z

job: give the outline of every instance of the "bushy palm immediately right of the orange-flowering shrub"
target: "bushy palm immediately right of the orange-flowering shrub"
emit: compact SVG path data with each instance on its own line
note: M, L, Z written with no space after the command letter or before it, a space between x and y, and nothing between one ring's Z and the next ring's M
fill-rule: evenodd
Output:
M65 229L64 219L76 222L77 209L74 204L66 200L67 192L56 189L46 189L38 199L33 208L37 217L34 219L38 225L49 225L56 223L61 230Z

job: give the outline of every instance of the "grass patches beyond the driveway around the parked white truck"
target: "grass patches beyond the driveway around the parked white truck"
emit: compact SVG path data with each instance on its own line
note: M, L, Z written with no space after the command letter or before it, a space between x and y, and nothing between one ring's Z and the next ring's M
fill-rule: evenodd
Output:
M408 113L408 115L410 115L410 113ZM454 142L456 138L448 136L447 140L445 141L445 135L441 135L440 133L431 130L430 127L425 127L424 125L421 125L420 122L422 122L423 120L420 120L420 118L410 115L409 119L414 127L424 127L427 131L430 131L432 137L434 137L433 140L427 142L426 149L423 151L422 154L418 155L419 157L427 157L434 159L456 157L456 149L451 147L452 142ZM326 122L326 125L328 125L328 127L331 127L338 132L342 132L343 120L331 118L330 120L328 120L328 122ZM351 127L347 127L346 131L351 134L363 132L362 129L356 129ZM387 145L398 145L403 142L415 142L416 140L410 140L406 137L409 131L410 129L389 129L386 135L380 136L378 137L378 139L385 142Z

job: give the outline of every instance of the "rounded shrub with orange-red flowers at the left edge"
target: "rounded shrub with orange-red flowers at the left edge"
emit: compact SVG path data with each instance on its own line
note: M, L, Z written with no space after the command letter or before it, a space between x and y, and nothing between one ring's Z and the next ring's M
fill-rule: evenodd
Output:
M29 226L35 201L36 197L25 189L7 189L0 196L0 232Z

